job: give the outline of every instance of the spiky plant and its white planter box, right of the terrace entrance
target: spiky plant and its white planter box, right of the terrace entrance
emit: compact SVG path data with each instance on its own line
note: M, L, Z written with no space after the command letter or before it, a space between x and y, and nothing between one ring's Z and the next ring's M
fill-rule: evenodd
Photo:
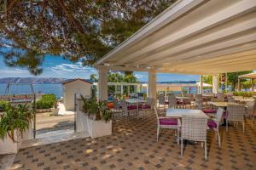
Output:
M81 96L77 112L77 131L86 131L91 138L110 135L112 133L112 111L108 109L107 101L97 101L96 98L84 99Z

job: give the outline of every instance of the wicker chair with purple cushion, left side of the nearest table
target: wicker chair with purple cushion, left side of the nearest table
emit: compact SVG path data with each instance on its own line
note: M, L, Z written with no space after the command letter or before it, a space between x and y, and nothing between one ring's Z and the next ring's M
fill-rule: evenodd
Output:
M156 133L156 141L157 142L158 142L158 139L160 136L161 128L175 129L177 132L177 119L166 117L166 116L159 116L159 113L155 107L154 107L154 113L155 113L155 116L157 119L157 133Z

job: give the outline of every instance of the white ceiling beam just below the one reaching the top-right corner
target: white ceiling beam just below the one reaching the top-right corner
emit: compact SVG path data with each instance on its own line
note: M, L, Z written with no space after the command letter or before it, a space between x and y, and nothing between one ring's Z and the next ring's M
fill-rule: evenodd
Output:
M140 58L134 59L133 63L134 65L141 65L150 60L165 58L168 55L170 56L173 54L177 54L182 51L195 48L209 42L213 42L213 41L216 42L220 39L223 39L224 37L235 36L236 34L239 34L243 31L251 30L255 27L256 27L256 18L253 18L252 20L241 22L235 26L230 26L228 28L225 28L219 31L213 31L211 34L196 38L195 40L192 40L189 42L183 42L176 47L173 47L173 48L169 47L168 49L161 51L158 54L149 54L149 56L147 55L143 57L143 59L140 59Z

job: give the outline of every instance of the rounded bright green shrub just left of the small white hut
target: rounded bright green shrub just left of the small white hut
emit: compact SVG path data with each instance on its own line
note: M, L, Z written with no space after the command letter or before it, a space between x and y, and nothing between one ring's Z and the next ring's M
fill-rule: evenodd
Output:
M50 109L55 105L55 94L44 94L37 101L37 109Z

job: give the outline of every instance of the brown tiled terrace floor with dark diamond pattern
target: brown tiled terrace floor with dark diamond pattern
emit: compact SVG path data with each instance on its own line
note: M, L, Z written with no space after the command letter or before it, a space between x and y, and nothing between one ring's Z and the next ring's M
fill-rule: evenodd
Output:
M113 135L74 139L22 149L12 169L256 169L256 126L221 127L222 149L208 132L208 161L201 144L186 144L183 158L174 132L162 131L156 142L154 115L140 121L113 122Z

